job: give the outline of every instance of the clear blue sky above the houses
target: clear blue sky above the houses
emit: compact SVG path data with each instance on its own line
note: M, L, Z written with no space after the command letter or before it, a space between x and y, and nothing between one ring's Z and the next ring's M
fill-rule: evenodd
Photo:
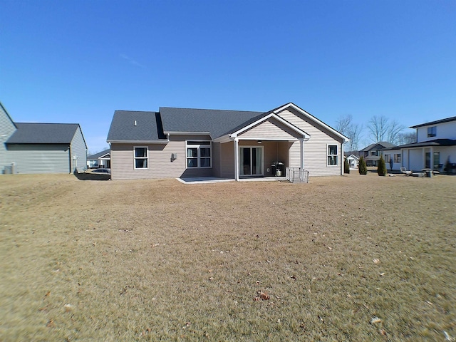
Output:
M454 0L1 0L0 13L1 103L16 122L80 123L90 152L114 110L456 115Z

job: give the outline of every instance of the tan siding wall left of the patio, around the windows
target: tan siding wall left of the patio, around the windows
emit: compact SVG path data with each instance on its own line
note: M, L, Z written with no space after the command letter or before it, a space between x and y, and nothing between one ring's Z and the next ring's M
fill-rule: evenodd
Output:
M212 176L212 167L187 169L185 140L210 140L209 137L191 135L171 135L167 144L113 144L111 143L111 179L132 180L149 178L177 178ZM135 170L133 147L148 147L148 168ZM171 161L172 153L177 159ZM214 155L214 150L212 150ZM212 157L212 163L214 158Z

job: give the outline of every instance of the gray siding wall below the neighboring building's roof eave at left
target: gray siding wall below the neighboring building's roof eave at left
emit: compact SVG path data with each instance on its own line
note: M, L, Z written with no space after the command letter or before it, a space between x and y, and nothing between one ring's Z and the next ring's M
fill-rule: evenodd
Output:
M68 145L17 144L8 145L9 159L15 162L14 173L68 173Z

